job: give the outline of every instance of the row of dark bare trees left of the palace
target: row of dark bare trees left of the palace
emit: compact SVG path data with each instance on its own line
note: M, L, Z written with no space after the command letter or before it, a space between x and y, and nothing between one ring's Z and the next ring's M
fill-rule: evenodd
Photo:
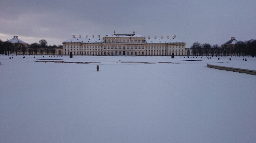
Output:
M39 43L32 44L13 44L0 39L0 54L5 55L55 55L56 48L62 48L62 45L48 45L44 39L39 40Z

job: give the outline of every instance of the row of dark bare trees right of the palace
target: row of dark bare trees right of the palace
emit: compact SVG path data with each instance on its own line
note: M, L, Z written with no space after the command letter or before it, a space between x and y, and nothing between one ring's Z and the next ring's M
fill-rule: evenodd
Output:
M256 56L256 40L238 41L236 44L200 44L195 42L190 47L195 56Z

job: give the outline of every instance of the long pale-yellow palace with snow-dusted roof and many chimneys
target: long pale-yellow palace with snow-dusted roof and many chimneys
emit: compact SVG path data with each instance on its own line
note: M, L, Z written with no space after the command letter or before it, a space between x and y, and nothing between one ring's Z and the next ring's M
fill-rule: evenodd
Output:
M63 44L62 55L186 55L186 43L173 38L147 38L139 34L73 37Z

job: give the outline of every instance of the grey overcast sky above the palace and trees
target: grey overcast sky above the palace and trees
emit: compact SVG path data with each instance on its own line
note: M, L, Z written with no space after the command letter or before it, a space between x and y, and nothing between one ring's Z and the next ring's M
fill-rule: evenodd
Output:
M0 0L0 39L59 45L117 34L223 44L256 39L256 0Z

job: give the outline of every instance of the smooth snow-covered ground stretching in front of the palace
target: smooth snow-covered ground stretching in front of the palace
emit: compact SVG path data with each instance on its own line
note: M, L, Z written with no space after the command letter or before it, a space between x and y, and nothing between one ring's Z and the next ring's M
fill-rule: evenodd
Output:
M0 143L256 143L256 76L207 67L256 58L22 57L0 55Z

